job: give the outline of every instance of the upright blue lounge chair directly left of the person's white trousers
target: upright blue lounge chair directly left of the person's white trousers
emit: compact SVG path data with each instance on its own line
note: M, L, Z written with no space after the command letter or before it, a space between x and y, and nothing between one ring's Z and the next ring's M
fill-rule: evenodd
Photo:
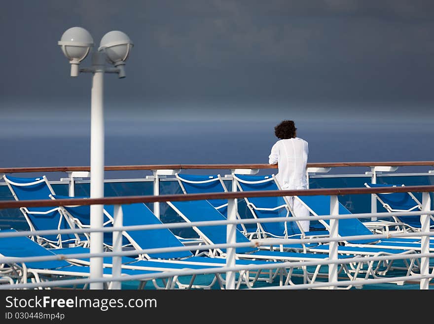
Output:
M280 190L274 175L247 176L234 175L234 180L240 191ZM257 197L244 198L252 215L256 219L269 217L291 217L293 215L287 198ZM324 226L320 227L324 229ZM326 231L304 232L298 221L258 223L257 237L288 238L293 236L320 236L327 235Z

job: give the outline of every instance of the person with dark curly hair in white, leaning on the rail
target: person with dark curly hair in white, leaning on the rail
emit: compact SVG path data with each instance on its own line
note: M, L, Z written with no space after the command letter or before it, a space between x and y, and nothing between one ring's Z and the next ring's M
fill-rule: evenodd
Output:
M283 120L274 127L277 141L268 156L269 164L278 164L276 179L283 190L307 189L306 164L309 153L308 144L296 135L292 120ZM294 216L309 216L309 211L297 199L287 197ZM303 231L309 231L309 220L298 222Z

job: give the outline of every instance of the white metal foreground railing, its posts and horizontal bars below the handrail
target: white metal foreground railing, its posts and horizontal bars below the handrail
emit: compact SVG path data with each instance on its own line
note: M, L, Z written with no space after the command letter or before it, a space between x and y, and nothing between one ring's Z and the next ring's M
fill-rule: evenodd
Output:
M229 199L229 202L232 201L232 203L229 203L229 215L228 220L221 220L221 221L203 221L203 222L193 222L193 223L169 223L169 224L154 224L154 225L136 225L136 226L121 226L122 224L122 208L120 206L116 206L116 212L115 212L115 226L112 228L100 228L100 229L65 229L65 230L46 230L46 231L22 231L22 232L0 232L0 237L11 237L11 236L28 236L28 235L47 235L52 233L84 233L84 232L113 232L114 240L113 242L119 242L119 233L121 231L129 231L129 230L143 230L143 229L156 229L156 228L177 228L177 227L191 227L191 226L202 226L202 225L221 225L221 224L227 224L228 225L228 236L227 236L227 244L217 244L217 245L197 245L197 246L188 246L188 247L179 247L179 248L160 248L160 249L148 249L148 250L134 250L134 251L121 251L119 249L119 246L115 244L116 248L113 252L105 252L105 253L81 253L81 254L72 254L72 255L53 255L50 257L26 257L26 258L4 258L0 257L0 264L1 263L25 263L25 262L31 262L31 261L42 261L42 260L50 260L50 259L68 259L68 258L74 258L74 257L101 257L101 256L114 256L114 260L116 257L126 256L126 255L136 255L136 254L143 254L143 253L155 253L155 252L173 252L173 251L183 251L183 250L195 250L195 249L201 249L201 250L208 250L208 249L220 249L220 248L227 248L227 255L226 255L226 267L218 268L216 270L215 268L210 268L207 271L204 271L204 269L201 270L188 270L188 271L180 271L180 272L174 272L171 271L170 273L161 273L161 274L155 274L153 276L151 275L138 275L138 276L130 276L128 278L124 278L120 276L121 273L121 262L116 262L113 260L113 276L111 278L97 278L97 279L77 279L77 280L69 280L61 282L58 281L52 281L49 283L26 283L26 284L15 284L13 286L11 285L2 285L2 288L36 288L36 287L54 287L55 285L71 285L71 284L86 284L91 282L114 282L112 284L111 288L120 288L120 282L125 280L137 280L137 279L147 279L147 278L168 278L172 276L177 275L197 275L201 273L215 273L215 272L226 272L226 288L234 288L234 275L235 271L240 270L249 270L249 269L258 269L258 268L276 268L275 264L272 265L264 265L263 266L235 266L235 253L231 252L234 251L236 247L246 247L246 246L260 246L262 243L260 241L253 240L252 243L235 243L234 241L234 235L235 231L233 230L235 228L235 225L238 223L256 223L256 222L272 222L272 221L282 221L282 217L274 217L274 218L268 218L268 219L236 219L233 217L234 209L233 209L233 200ZM429 273L429 258L433 256L433 253L429 252L429 236L433 235L432 232L429 231L429 217L428 215L433 215L434 212L429 210L429 193L424 193L424 199L423 199L423 205L424 210L423 211L417 211L417 212L409 212L409 213L397 213L398 215L421 215L422 220L422 231L417 233L389 233L388 235L379 235L379 234L372 234L372 235L361 235L361 236L350 236L350 237L338 237L337 236L337 219L344 219L344 218L367 218L371 217L372 213L369 214L353 214L353 215L337 215L337 196L332 196L331 198L331 205L330 205L330 215L329 216L321 216L317 217L322 219L330 219L330 236L327 238L315 238L315 239L270 239L267 241L267 244L272 245L278 245L278 244L293 244L293 243L330 243L330 249L329 249L329 260L323 260L323 261L303 261L303 262L281 262L282 264L279 264L282 267L300 267L300 266L310 266L310 265L333 265L329 267L329 280L327 283L317 283L317 284L310 284L311 286L307 285L306 287L304 285L297 285L295 288L320 288L320 287L339 287L344 285L342 282L337 282L337 265L342 263L342 260L337 259L337 243L340 241L352 239L352 240L359 240L359 239L380 239L380 238L386 238L386 237L413 237L418 236L422 237L425 240L422 241L421 244L421 253L418 253L417 255L414 255L414 257L421 258L421 274L420 276L417 275L411 275L411 276L403 276L399 277L399 280L420 280L421 284L420 287L422 289L428 288L429 280L433 277L433 274ZM388 213L376 213L376 216L385 216L389 215ZM285 219L285 221L294 221L294 220L312 220L312 216L308 217L290 217L289 219ZM336 220L333 224L332 220ZM427 230L427 224L428 224L428 230ZM231 250L232 249L232 250ZM403 259L408 258L408 255L405 256L385 256L385 257L353 257L346 259L346 262L360 262L362 261L379 261L379 260L392 260L392 259ZM214 271L214 272L213 272ZM133 279L134 278L134 279ZM381 279L381 281L375 281L371 279L367 279L363 281L363 279L358 280L358 285L363 284L369 284L369 283L376 283L376 282L394 282L397 278L389 278L389 279ZM350 283L351 284L351 283ZM354 283L353 283L354 284ZM292 288L291 288L292 289Z

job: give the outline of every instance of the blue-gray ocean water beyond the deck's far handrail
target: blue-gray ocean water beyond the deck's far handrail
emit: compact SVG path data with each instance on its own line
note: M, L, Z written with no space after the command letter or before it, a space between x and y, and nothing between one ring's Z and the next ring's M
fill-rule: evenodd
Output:
M268 163L277 140L277 122L109 121L105 164ZM430 123L296 121L296 126L297 136L309 143L308 162L434 160ZM90 165L88 122L9 121L1 128L0 139L1 167ZM399 171L429 169L402 167ZM340 174L365 171L364 167L332 170ZM143 171L107 172L106 178L143 175Z

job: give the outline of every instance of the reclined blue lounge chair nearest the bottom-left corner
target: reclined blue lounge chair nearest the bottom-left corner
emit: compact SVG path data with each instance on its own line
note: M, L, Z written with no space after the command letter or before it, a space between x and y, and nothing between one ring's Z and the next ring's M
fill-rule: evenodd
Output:
M15 230L1 230L10 232ZM77 250L76 250L77 251ZM78 252L78 251L77 251ZM0 237L0 255L4 257L29 257L29 256L53 256L55 253L45 249L43 246L30 240L27 237ZM29 279L40 283L45 278L55 277L89 277L90 268L88 266L77 266L65 260L33 261L21 264L8 264L14 269L14 279L20 283L27 283ZM122 269L122 275L154 274L161 271L149 271L138 269ZM112 269L104 268L103 276L111 277ZM151 279L151 278L150 278ZM147 279L148 280L148 279ZM145 281L144 281L145 283ZM60 285L61 286L61 285ZM143 285L142 285L143 286ZM86 286L84 286L85 288Z

